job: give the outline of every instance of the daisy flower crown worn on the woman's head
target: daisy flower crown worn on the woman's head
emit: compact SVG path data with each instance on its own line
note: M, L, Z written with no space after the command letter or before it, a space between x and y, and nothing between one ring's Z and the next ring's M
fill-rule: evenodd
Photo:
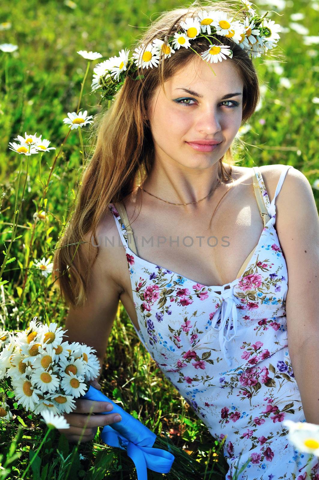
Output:
M240 12L242 18L238 20L236 17ZM130 50L125 48L119 56L98 63L93 70L92 91L101 89L101 99L111 100L127 75L133 80L143 79L143 74L136 75L139 69L158 67L162 59L170 58L179 48L194 50L191 42L198 37L206 38L210 46L201 54L196 50L194 52L208 64L233 57L232 48L223 45L223 37L244 49L250 58L260 57L276 47L280 38L280 25L267 19L268 13L261 17L248 0L240 0L240 7L234 14L221 10L199 10L180 21L177 31L165 36L165 41L155 38L147 45L142 43L135 48L130 58Z

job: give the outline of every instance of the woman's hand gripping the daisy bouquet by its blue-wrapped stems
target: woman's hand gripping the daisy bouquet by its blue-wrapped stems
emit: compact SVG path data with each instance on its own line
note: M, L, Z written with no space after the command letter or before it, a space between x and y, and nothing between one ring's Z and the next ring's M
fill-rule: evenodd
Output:
M97 380L89 382L92 386L101 389L101 385ZM116 421L122 420L122 417L117 413L110 413L108 415L102 415L101 412L112 410L113 406L110 402L98 402L95 400L87 400L86 398L75 399L75 409L71 413L64 413L63 417L69 423L70 428L58 429L60 433L64 433L70 443L77 443L80 436L82 442L89 442L93 440L98 427L104 427L105 425L111 425ZM91 412L91 413L90 413ZM90 413L90 415L88 415ZM95 413L95 415L92 415ZM98 415L100 413L100 415ZM116 420L115 417L119 419Z

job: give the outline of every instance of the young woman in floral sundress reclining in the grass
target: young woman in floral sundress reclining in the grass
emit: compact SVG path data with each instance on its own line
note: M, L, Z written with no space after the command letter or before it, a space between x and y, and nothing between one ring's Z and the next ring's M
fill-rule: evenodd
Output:
M206 5L230 12L223 2ZM141 44L200 14L196 4L165 12ZM297 460L282 420L319 423L319 218L296 168L233 161L234 137L258 104L258 78L245 48L222 40L233 57L213 63L215 74L178 48L162 71L125 79L99 125L54 268L67 271L59 281L69 339L96 348L102 364L121 300L209 432L227 435L227 479L249 457L242 479L306 478L307 460L319 474L318 458ZM200 37L192 47L201 53L209 43ZM78 400L65 415L71 441L91 407ZM93 411L105 409L101 402ZM92 416L83 441L113 421Z

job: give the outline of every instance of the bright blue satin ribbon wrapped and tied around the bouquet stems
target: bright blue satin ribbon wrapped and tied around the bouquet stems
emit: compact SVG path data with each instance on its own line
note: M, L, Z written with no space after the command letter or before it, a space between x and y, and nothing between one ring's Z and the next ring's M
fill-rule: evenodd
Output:
M112 410L103 412L103 414L119 413L121 415L121 421L112 423L112 426L105 425L103 427L101 437L105 444L127 451L127 455L135 464L137 480L147 480L147 468L159 473L168 473L171 470L175 457L160 448L152 448L156 434L143 423L132 417L92 385L81 398L110 402L113 405Z

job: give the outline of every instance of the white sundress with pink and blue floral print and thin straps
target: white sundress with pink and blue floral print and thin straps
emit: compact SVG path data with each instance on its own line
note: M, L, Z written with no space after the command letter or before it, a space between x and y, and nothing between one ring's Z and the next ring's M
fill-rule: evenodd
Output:
M126 251L135 331L212 436L226 436L227 480L249 457L238 480L319 480L319 458L298 453L282 425L306 421L288 350L288 275L275 228L275 199L293 168L285 167L271 202L253 167L264 228L243 273L223 286L202 285L137 256L127 216L124 225L117 204L109 204Z

